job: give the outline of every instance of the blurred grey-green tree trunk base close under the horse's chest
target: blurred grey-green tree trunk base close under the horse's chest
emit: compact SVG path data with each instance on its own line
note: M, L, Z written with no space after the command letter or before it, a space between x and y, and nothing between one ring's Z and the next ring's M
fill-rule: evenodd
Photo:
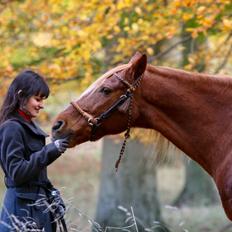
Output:
M199 206L219 201L212 178L193 160L186 162L185 185L174 205Z

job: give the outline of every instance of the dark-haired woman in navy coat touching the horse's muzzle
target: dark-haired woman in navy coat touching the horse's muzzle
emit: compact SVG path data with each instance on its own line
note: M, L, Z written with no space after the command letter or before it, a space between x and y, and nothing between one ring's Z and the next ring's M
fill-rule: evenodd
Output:
M49 95L44 78L31 70L11 83L0 109L0 164L6 193L0 231L56 231L65 211L47 166L68 147L67 138L45 145L47 135L35 124ZM65 225L64 225L65 227Z

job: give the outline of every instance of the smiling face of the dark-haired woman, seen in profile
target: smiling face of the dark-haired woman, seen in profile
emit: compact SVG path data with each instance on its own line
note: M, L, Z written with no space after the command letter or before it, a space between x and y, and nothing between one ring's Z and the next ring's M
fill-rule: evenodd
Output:
M43 101L43 97L32 96L29 98L24 108L30 114L31 117L35 118L38 116L39 111L44 108Z

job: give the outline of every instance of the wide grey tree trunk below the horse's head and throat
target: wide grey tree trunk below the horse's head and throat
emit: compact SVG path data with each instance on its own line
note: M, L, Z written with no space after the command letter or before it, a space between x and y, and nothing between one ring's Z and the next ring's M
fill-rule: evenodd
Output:
M109 137L103 140L96 222L103 228L124 227L133 224L134 214L137 228L133 226L130 231L144 231L161 219L156 170L152 165L154 156L151 147L137 140L128 141L119 169L115 172L121 144L121 140L118 143Z

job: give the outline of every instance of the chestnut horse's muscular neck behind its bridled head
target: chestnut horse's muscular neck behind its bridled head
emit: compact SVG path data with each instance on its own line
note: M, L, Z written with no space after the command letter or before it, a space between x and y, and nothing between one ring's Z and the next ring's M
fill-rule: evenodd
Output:
M149 66L137 125L155 129L213 174L231 150L232 82Z

